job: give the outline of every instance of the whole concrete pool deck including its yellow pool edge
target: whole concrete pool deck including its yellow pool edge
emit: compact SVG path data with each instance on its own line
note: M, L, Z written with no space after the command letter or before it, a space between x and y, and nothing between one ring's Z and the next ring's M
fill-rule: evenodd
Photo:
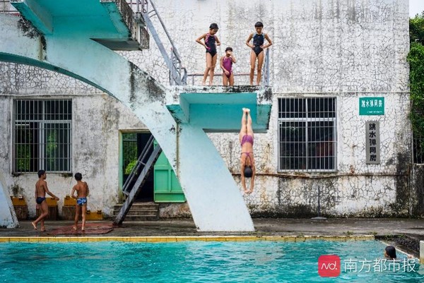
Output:
M379 239L405 251L424 263L424 219L408 218L330 218L288 219L254 218L254 232L198 232L192 219L160 219L146 222L124 222L107 233L95 234L96 227L111 228L110 220L88 221L86 232L58 234L54 231L71 231L72 221L49 221L47 231L34 230L31 222L20 221L16 229L0 229L0 243L69 242L69 241L362 241ZM81 225L81 222L80 222ZM93 229L88 233L89 230ZM99 230L100 231L100 230ZM104 231L103 231L104 232ZM421 244L420 244L420 241ZM422 246L422 247L420 247ZM421 251L420 253L420 249Z

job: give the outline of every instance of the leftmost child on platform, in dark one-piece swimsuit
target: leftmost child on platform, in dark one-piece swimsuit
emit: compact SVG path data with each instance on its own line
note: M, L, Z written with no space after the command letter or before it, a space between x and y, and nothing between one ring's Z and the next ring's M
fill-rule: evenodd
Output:
M220 45L220 41L216 36L216 32L218 32L218 25L216 23L212 23L209 26L209 32L201 35L196 42L203 45L206 48L206 69L203 78L203 85L206 84L206 78L209 75L209 85L213 83L213 75L216 66L216 46ZM201 42L201 40L204 42Z

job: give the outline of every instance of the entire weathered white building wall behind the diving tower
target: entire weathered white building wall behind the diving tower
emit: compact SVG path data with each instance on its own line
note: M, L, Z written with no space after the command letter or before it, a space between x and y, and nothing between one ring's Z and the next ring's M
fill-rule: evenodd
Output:
M273 40L271 86L274 103L269 131L255 135L257 184L245 200L253 215L315 215L318 187L322 213L332 216L416 214L409 184L410 126L408 122L408 1L396 0L281 0L281 1L157 1L188 73L203 73L204 48L194 40L218 23L222 46L237 56L235 73L249 71L250 49L245 45L254 23L261 20ZM155 22L157 23L157 22ZM167 46L165 44L165 46ZM167 46L167 48L170 48ZM167 84L168 73L151 37L151 49L121 52ZM90 201L107 212L117 200L118 129L142 128L114 100L83 83L51 76L50 72L15 64L0 64L0 93L75 95L73 171L81 171L94 190ZM220 68L216 67L219 84ZM236 84L247 83L236 77ZM191 80L190 80L191 81ZM200 78L196 77L196 83ZM359 97L385 99L382 116L359 116ZM10 109L13 96L1 95L1 109ZM278 98L336 97L337 170L327 173L278 171ZM77 103L78 102L78 103ZM95 105L95 107L93 107ZM99 112L100 109L100 112ZM89 113L86 116L86 113ZM10 111L1 114L10 119ZM240 117L235 117L240 119ZM365 121L379 121L381 164L365 164ZM86 129L90 133L86 133ZM11 173L11 123L1 124L0 167ZM210 134L213 143L240 181L240 145L236 133ZM5 139L6 138L6 139ZM101 145L101 146L98 146ZM106 156L105 159L102 159ZM102 160L100 160L102 159ZM25 188L33 198L35 174L7 176L9 190ZM49 186L68 192L71 178L49 174ZM96 188L97 187L97 188ZM29 193L28 193L29 192ZM187 212L184 212L187 213Z

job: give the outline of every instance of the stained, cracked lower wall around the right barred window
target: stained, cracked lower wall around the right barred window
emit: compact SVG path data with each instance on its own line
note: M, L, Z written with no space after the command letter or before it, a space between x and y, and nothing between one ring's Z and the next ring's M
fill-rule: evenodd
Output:
M358 96L337 95L337 171L327 173L278 172L278 111L271 113L270 129L255 134L257 180L252 195L245 195L254 216L382 217L409 215L411 198L418 198L409 183L410 125L408 97L403 92L386 97L384 116L358 116ZM284 97L284 95L276 95ZM294 96L298 96L294 95ZM274 104L275 105L275 104ZM380 121L381 164L365 164L365 121ZM240 144L235 134L211 134L228 167L240 178ZM240 181L240 180L239 180ZM417 211L417 210L416 210ZM418 211L417 211L418 212Z

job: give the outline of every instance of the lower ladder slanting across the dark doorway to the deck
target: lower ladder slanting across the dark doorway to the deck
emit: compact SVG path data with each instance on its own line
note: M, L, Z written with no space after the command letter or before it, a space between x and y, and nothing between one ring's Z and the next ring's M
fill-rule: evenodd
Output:
M131 205L134 203L137 195L139 195L143 184L146 182L148 175L151 173L151 169L155 164L156 160L162 152L162 148L159 145L153 148L154 142L153 136L149 138L146 146L143 148L139 159L137 159L136 165L131 170L131 173L126 179L122 192L127 196L124 204L119 210L117 217L114 219L114 224L122 224L126 214L129 212ZM153 152L149 155L153 148Z

